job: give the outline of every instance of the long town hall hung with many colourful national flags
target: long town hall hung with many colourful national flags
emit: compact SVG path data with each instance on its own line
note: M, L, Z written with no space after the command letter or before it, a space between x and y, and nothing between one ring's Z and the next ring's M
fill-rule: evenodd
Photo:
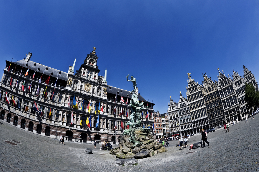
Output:
M107 85L107 70L104 77L99 76L95 48L76 72L76 60L66 73L33 62L31 57L28 53L17 63L6 60L0 83L1 120L52 138L63 135L66 140L89 143L117 140L130 120L131 92ZM152 126L155 104L146 101L138 90L136 94L140 102L144 101L142 125Z

